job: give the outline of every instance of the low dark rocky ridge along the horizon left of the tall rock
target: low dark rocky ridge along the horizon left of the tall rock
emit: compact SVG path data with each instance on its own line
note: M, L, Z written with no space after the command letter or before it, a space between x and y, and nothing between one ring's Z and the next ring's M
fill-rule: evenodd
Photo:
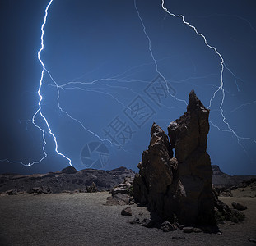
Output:
M135 173L125 167L111 171L84 169L77 171L68 166L62 171L35 175L0 175L0 193L11 189L21 189L30 193L60 193L64 191L93 192L109 190L123 182L126 177L134 177ZM95 184L95 185L93 185Z

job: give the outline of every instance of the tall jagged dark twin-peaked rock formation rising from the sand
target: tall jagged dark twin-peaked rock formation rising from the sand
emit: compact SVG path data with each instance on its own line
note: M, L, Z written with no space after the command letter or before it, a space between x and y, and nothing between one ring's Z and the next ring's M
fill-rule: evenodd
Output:
M212 166L207 154L209 110L194 91L187 112L168 126L154 123L148 150L142 153L133 180L133 198L163 220L180 224L213 224ZM175 150L175 157L174 152Z

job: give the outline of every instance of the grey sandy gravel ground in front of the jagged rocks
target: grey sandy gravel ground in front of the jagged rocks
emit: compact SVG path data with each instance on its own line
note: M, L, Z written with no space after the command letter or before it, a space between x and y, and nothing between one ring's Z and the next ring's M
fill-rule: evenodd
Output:
M108 196L106 192L0 196L0 245L256 245L249 242L256 239L255 197L221 198L248 209L244 222L226 222L218 235L165 233L131 225L128 221L134 217L148 218L147 210L132 205L133 216L121 216L127 206L104 205Z

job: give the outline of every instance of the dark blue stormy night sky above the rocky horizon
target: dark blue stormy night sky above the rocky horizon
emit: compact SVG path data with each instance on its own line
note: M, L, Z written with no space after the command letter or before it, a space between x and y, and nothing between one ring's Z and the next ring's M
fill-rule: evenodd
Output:
M42 66L37 51L48 3L0 2L2 160L28 164L44 157L42 133L31 119L38 109ZM225 61L222 108L235 134L222 121L220 91L212 100L210 121L224 131L211 124L207 151L212 164L230 175L256 174L254 0L165 0L165 7L184 15ZM185 103L175 98L187 101L194 89L208 107L221 85L220 57L181 18L165 13L161 0L137 0L137 10L164 78L156 71L133 0L54 0L49 7L41 58L54 80L44 73L42 112L58 140L58 151L77 169L137 170L152 123L167 132L170 121L186 111ZM58 108L58 91L63 111ZM36 116L35 122L46 132L48 157L30 167L0 162L1 172L47 172L68 166L67 159L54 152L54 139L42 118Z

